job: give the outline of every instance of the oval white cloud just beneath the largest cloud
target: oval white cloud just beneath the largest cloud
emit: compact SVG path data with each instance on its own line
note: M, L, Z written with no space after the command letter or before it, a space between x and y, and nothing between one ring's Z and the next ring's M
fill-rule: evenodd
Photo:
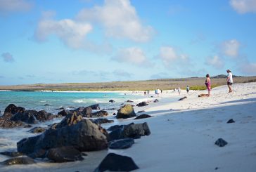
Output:
M112 59L117 62L128 62L134 65L145 65L148 63L144 52L136 47L120 49Z

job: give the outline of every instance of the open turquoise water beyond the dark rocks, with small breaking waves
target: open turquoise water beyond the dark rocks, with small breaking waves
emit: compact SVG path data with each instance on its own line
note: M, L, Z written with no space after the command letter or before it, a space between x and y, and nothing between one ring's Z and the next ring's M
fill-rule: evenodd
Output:
M117 107L127 100L143 98L137 94L124 93L84 93L84 92L27 92L27 91L0 91L0 111L4 114L5 108L13 103L25 107L25 110L46 110L58 113L60 107L87 107L98 103L101 109ZM109 100L115 100L110 103Z

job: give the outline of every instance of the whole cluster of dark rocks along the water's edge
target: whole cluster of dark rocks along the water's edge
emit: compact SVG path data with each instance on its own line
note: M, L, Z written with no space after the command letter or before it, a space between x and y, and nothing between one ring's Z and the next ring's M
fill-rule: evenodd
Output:
M148 102L141 102L137 106L143 105L148 105ZM126 104L120 107L117 110L116 119L150 117L147 114L137 116L133 106ZM92 112L93 110L97 111ZM127 149L132 147L134 139L151 134L147 123L131 123L121 126L115 125L107 129L103 128L101 124L113 122L113 120L103 118L106 116L108 116L108 112L101 110L98 104L78 107L75 110L62 108L58 114L51 114L44 110L25 110L24 107L10 104L0 117L1 128L30 128L33 124L51 121L56 117L63 117L63 120L50 125L49 128L35 127L30 129L32 133L41 134L18 141L17 152L0 152L0 154L11 157L0 164L34 164L37 163L37 159L55 163L83 161L84 156L87 156L84 152ZM139 167L132 158L110 153L95 171L113 171L115 169L132 171L137 168Z

